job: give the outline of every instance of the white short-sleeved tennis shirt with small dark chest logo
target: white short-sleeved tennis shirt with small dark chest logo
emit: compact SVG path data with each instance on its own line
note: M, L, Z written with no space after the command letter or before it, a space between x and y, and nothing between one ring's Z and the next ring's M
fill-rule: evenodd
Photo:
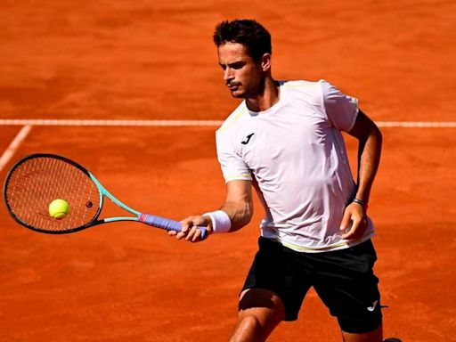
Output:
M350 131L357 100L330 83L280 82L279 101L261 112L246 102L216 131L225 182L252 180L265 208L262 236L302 252L354 246L339 231L355 183L340 131Z

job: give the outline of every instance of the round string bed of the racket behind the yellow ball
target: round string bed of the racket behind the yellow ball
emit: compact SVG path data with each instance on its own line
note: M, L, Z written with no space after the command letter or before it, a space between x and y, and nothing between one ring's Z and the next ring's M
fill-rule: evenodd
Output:
M46 232L65 232L93 221L100 208L100 193L84 171L67 161L38 157L14 168L5 187L12 214L29 226ZM49 215L54 199L69 203L69 214Z

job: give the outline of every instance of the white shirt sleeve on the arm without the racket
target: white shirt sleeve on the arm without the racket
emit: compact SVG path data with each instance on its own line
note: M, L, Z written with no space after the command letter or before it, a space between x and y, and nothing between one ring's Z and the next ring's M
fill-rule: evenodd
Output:
M358 116L358 100L342 94L338 88L322 80L323 104L333 126L349 132Z

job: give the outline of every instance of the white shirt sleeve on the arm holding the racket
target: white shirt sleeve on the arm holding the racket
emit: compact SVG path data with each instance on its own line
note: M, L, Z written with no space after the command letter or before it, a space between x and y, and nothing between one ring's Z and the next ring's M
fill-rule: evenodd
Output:
M232 141L226 132L216 132L217 159L224 174L224 181L233 180L251 181L252 175L246 162L232 146Z

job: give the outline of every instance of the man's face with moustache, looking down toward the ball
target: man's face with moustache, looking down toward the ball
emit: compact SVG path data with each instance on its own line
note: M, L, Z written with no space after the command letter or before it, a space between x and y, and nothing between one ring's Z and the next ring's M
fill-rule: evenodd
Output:
M248 98L263 92L265 73L261 61L254 61L244 45L226 43L217 52L225 84L233 97Z

